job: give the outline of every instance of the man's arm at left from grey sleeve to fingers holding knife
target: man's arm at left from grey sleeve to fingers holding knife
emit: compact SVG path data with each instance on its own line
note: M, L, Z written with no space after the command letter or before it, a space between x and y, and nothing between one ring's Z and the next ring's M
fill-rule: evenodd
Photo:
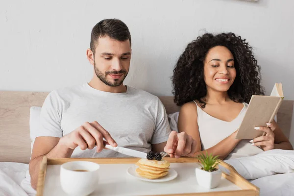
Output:
M29 164L31 186L37 187L38 171L43 156L48 158L69 158L76 147L82 150L93 149L97 152L104 148L103 138L113 147L117 144L110 134L96 121L84 123L71 133L63 135L61 129L62 98L56 91L49 93L44 101L40 114L40 129L36 137Z

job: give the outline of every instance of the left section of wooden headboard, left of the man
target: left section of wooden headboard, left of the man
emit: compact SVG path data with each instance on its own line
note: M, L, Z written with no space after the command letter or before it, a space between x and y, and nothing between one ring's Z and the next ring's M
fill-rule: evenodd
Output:
M0 161L29 162L29 110L31 106L42 106L47 95L0 91Z

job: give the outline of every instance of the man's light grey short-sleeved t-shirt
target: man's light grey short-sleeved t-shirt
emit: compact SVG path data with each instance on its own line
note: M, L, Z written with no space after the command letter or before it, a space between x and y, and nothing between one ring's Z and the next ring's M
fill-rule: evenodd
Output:
M168 117L158 97L127 86L126 93L109 93L88 83L52 91L40 115L39 136L62 137L85 122L97 121L120 147L148 152L151 144L168 140ZM96 152L77 147L72 157L126 157L113 150Z

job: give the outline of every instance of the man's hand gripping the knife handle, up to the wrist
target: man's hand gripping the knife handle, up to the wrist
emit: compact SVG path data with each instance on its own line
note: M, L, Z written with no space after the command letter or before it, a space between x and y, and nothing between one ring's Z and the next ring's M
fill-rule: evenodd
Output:
M73 132L60 138L60 145L75 149L80 147L82 150L93 149L97 146L97 152L104 148L103 138L113 147L117 147L117 143L110 134L96 121L92 123L84 123L76 128Z

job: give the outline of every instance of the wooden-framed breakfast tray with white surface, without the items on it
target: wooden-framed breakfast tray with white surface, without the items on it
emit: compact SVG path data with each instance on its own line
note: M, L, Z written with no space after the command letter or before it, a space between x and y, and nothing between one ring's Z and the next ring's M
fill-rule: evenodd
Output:
M175 159L175 158L165 158L165 159L171 163L171 168L174 168L178 172L179 174L177 176L178 179L175 178L174 180L171 180L169 182L152 183L152 182L145 182L145 181L135 179L133 176L130 176L126 173L125 168L135 164L139 160L138 158L47 159L47 157L44 157L40 165L36 196L47 196L49 195L49 194L46 194L48 192L50 193L50 195L51 194L63 195L63 194L60 194L61 192L56 194L58 189L61 190L60 182L59 182L60 165L70 161L91 161L91 162L101 164L100 165L101 168L104 167L104 169L101 171L102 177L99 176L100 179L99 179L98 186L100 186L99 189L103 189L103 188L107 189L107 193L104 192L104 195L113 195L113 196L121 195L122 193L116 190L116 188L124 189L124 193L122 195L128 195L128 193L125 191L128 191L133 188L129 192L130 195L139 194L139 195L164 195L164 196L178 196L178 195L180 196L259 196L258 187L252 185L250 182L245 180L245 178L243 178L232 166L228 165L227 163L223 161L221 161L220 163L220 168L222 168L222 171L225 171L225 172L222 172L222 181L220 183L220 186L215 189L205 189L203 187L200 187L196 182L195 168L198 166L196 164L198 162L198 159L185 158L185 157L178 158L178 159ZM109 165L104 165L104 164L109 164ZM116 165L116 164L119 164L119 165ZM112 172L111 173L107 172L107 175L105 175L105 168L107 167L108 167L108 170ZM50 173L47 171L49 172L51 171L52 174L50 175ZM103 176L103 172L104 172L104 176ZM53 175L55 175L55 178L52 177ZM116 178L113 178L114 175L118 175L118 176L116 176ZM108 176L112 176L112 179L119 179L120 177L121 179L120 181L115 181L113 183L110 183L109 181L110 179L107 179ZM51 179L51 181L49 179ZM128 180L130 180L130 183L126 183L126 181ZM47 189L46 189L46 182L47 182ZM48 185L50 184L49 182L51 183L50 186ZM100 182L104 184L100 185ZM131 186L131 187L129 189L125 186ZM144 192L144 190L142 192L142 189L144 188L146 189L146 192ZM155 191L150 193L150 189ZM171 189L175 191L175 192L172 192L172 194L171 194ZM187 190L189 191L189 193L187 193ZM111 191L113 191L113 193ZM95 193L91 194L91 196L92 195L96 196Z

